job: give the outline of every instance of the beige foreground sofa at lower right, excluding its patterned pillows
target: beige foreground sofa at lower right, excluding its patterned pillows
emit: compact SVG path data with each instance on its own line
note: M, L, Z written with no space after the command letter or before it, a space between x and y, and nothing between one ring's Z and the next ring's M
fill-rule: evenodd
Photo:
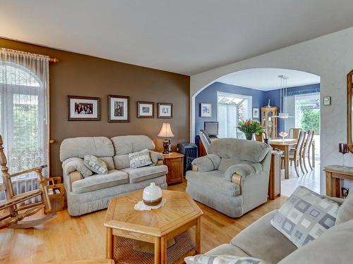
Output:
M328 198L340 204L344 201L343 199ZM205 255L252 257L265 260L269 264L353 263L353 220L331 227L323 232L321 237L298 249L270 224L276 211L273 210L253 222L252 225L234 237L229 244L217 246ZM186 264L198 263L186 260Z

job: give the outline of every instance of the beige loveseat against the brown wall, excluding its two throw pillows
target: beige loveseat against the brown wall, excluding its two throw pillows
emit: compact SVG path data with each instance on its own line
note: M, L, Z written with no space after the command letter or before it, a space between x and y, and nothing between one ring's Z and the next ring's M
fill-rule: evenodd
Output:
M128 153L150 150L152 165L131 169ZM76 137L64 139L60 146L64 184L70 215L83 215L107 208L114 196L143 189L155 182L167 189L166 165L160 165L163 155L152 151L155 144L143 135L112 137ZM79 170L84 167L85 155L93 155L107 163L106 175L83 177ZM86 169L84 167L84 169Z

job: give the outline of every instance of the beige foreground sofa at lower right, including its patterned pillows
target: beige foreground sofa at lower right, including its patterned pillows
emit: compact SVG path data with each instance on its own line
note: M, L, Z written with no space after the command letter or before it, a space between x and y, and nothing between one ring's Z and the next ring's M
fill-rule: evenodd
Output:
M305 187L299 188L299 191L307 191ZM311 203L321 198L316 205ZM287 201L279 210L246 227L229 244L186 258L186 264L353 263L353 193L345 200L309 194L303 201L295 196ZM330 207L328 201L336 203L338 210ZM273 221L278 219L283 220L283 225L275 224L275 228ZM330 226L325 227L326 224Z

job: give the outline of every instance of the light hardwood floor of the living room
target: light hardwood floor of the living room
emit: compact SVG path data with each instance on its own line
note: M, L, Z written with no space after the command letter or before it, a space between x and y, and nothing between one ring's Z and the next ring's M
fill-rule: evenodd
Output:
M186 182L168 187L185 191ZM232 219L198 203L203 210L202 252L229 243L245 227L262 215L280 208L286 200L279 197L252 210L241 218ZM30 230L0 230L0 263L60 263L65 260L99 259L105 256L106 210L71 217L67 210L57 218ZM194 230L191 230L194 232Z

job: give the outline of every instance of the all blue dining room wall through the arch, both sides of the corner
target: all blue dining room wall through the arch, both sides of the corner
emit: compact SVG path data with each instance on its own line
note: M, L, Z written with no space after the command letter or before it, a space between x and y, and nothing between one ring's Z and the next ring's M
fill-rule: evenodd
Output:
M246 96L253 96L253 107L261 108L267 106L268 99L270 99L271 106L280 108L280 89L271 90L268 92L256 89L239 87L231 84L224 84L221 82L214 82L206 87L196 96L195 103L195 134L203 129L203 122L217 121L217 92L227 92L229 94L241 94ZM312 94L320 92L320 84L304 85L299 87L290 87L287 89L288 96L298 94ZM212 118L200 117L200 103L212 103ZM278 124L278 131L282 129L282 122Z

